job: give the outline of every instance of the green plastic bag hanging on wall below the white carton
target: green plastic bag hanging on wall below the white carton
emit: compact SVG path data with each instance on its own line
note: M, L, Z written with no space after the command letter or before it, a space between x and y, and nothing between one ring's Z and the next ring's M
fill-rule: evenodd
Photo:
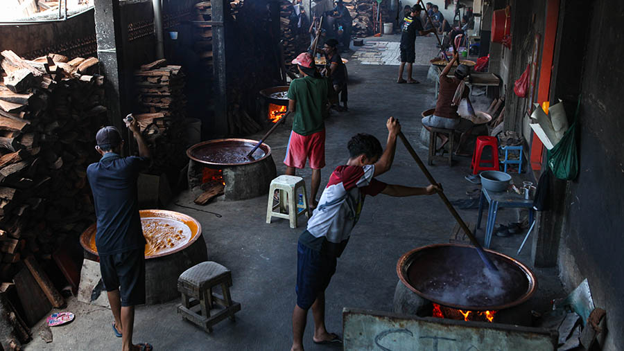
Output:
M548 150L548 166L555 177L564 180L575 179L578 174L578 154L576 148L576 123L566 130L561 141Z

